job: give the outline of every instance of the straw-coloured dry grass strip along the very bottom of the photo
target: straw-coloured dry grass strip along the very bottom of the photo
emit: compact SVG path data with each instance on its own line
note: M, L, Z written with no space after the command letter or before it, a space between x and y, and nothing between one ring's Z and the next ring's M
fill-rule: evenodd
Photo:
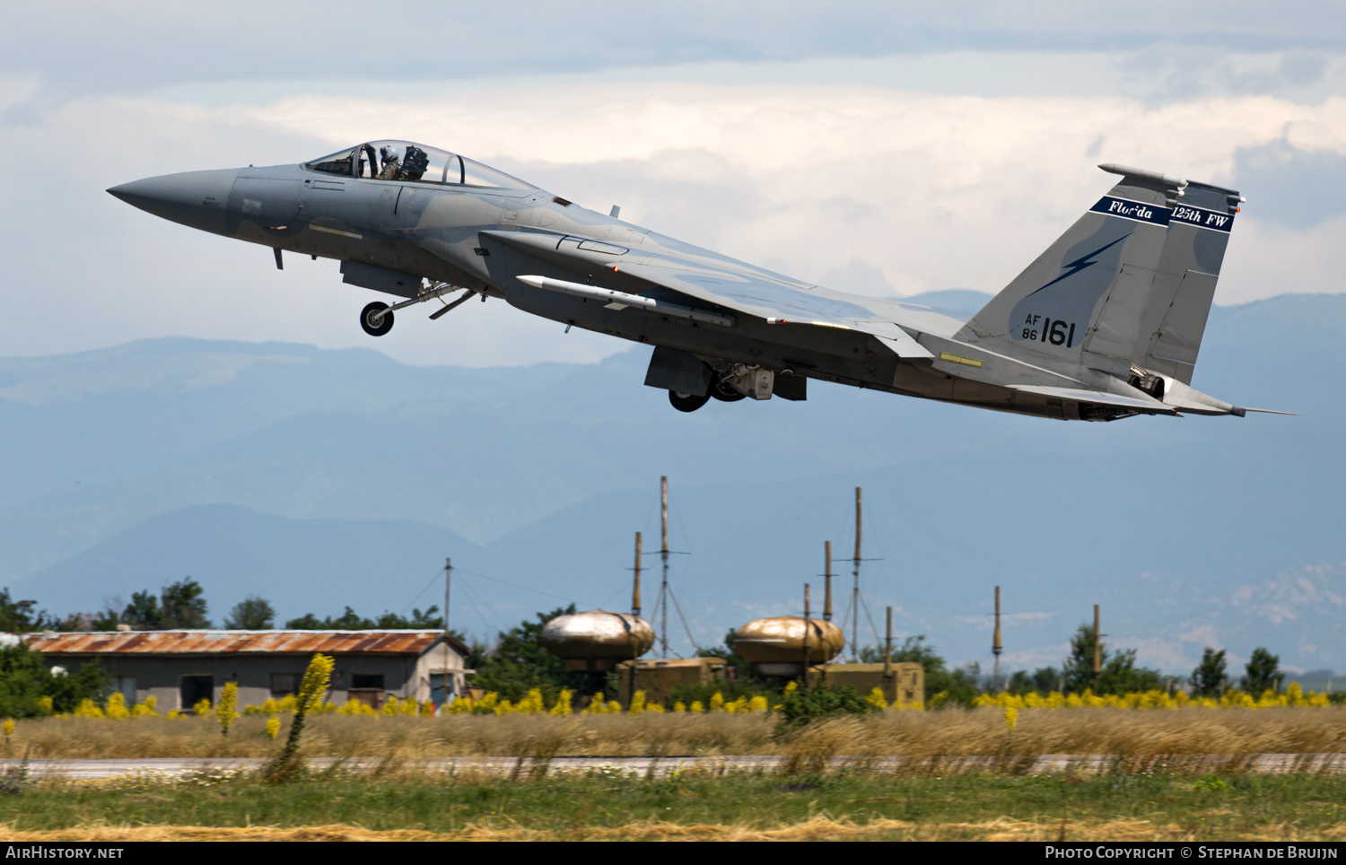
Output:
M331 826L78 826L51 831L7 831L8 842L42 841L1198 841L1198 835L1176 825L1155 825L1143 819L1088 822L1031 822L1000 818L979 823L913 823L874 819L813 817L797 823L771 827L747 823L680 825L637 822L616 827L572 830L529 829L518 825L468 823L452 833L419 829L370 830L336 823ZM1221 841L1346 841L1346 827L1306 830L1285 825L1256 826L1221 833Z

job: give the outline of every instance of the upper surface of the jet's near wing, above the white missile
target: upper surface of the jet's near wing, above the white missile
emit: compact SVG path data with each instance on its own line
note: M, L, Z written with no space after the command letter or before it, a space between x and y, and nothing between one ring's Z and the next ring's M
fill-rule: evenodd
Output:
M641 253L606 241L573 235L533 231L482 231L482 234L571 270L588 272L596 268L616 270L705 304L763 319L769 324L859 331L876 336L899 358L934 356L896 323L880 317L859 303L812 293L809 285L732 260Z

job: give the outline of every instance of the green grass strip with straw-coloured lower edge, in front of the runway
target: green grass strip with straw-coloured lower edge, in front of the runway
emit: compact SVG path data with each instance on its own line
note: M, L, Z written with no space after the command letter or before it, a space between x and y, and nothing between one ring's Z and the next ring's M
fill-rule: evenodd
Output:
M530 780L330 772L44 783L5 839L1346 839L1346 779L594 769Z

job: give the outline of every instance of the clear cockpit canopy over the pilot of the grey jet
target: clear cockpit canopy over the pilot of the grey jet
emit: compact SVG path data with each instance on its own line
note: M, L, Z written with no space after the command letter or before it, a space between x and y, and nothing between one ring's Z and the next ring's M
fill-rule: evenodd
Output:
M505 190L536 190L532 183L490 165L413 141L367 141L331 156L304 163L310 171L341 175L343 178L366 178L370 180L396 180L401 183L433 183L448 186L485 186Z

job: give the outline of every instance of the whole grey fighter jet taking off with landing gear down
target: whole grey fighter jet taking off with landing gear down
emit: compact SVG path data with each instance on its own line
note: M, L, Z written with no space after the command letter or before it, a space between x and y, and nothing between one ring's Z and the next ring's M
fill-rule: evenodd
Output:
M804 400L809 379L1058 420L1248 410L1191 387L1244 198L1159 171L1120 179L980 312L848 295L595 213L459 153L367 141L296 165L108 190L194 229L341 261L390 295L359 323L472 297L654 347L673 408ZM450 296L458 295L452 301Z

